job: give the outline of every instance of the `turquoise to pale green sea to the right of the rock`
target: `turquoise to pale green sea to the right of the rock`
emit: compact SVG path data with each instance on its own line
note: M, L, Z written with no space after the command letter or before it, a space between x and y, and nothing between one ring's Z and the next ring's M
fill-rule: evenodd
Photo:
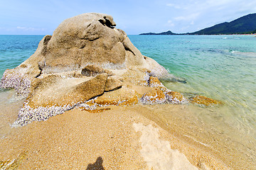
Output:
M253 35L130 35L143 55L154 58L186 84L165 82L185 96L223 101L220 116L256 138L256 37Z

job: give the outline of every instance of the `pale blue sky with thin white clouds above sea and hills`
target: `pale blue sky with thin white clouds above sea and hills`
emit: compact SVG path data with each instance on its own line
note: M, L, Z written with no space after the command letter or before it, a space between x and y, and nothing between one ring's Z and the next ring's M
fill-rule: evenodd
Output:
M0 34L52 35L80 13L113 16L127 34L188 33L256 13L255 0L0 0Z

